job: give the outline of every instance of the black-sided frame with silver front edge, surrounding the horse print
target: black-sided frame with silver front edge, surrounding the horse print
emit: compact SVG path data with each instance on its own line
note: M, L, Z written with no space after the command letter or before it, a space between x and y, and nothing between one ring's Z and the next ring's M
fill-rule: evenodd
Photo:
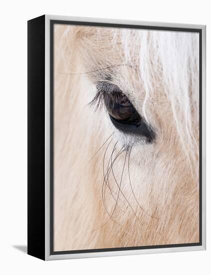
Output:
M111 21L111 22L110 22ZM200 241L151 246L116 247L84 250L53 250L53 26L54 24L141 28L171 31L198 32L200 35ZM48 42L47 42L48 41ZM48 50L46 52L46 50ZM46 55L48 58L46 59ZM46 66L46 60L49 61ZM49 70L49 87L46 87L46 67ZM49 90L49 127L46 128L46 89ZM46 259L110 255L110 252L130 254L141 250L154 252L205 249L205 26L133 22L113 22L104 19L80 20L53 15L42 15L28 21L28 254ZM46 199L46 129L49 130L49 200ZM49 211L46 210L49 203ZM47 217L46 221L46 216ZM49 225L49 232L46 224ZM49 247L47 247L49 246ZM106 254L105 252L108 252ZM110 254L109 254L110 253Z

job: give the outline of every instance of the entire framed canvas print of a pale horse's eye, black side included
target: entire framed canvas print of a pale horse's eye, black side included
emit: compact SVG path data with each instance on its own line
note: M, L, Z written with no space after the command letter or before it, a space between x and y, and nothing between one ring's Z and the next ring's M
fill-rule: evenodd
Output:
M206 248L206 26L28 21L28 254Z

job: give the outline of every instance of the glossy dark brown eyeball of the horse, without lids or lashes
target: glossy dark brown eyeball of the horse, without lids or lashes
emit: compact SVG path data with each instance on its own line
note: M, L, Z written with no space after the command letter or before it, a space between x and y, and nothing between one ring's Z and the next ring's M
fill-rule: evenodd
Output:
M110 116L124 124L141 123L141 116L129 100L129 98L120 91L114 91L111 95L105 98L105 105Z

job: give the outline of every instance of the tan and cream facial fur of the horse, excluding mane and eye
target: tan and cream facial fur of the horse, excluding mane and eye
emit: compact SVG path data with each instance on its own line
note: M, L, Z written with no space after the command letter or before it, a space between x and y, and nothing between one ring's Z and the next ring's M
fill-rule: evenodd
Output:
M149 62L152 54L149 54ZM161 81L162 67L152 71L154 92L143 110L146 86L139 74L136 55L137 52L132 53L133 58L127 60L118 29L114 35L109 28L55 27L56 251L199 241L198 152L193 151L188 139L181 142L171 100ZM105 108L95 111L88 106L95 95L95 83L107 75L109 68L106 67L112 70L113 83L130 96L139 113L145 112L157 134L152 144L136 143L130 159L126 150L117 157L113 164L114 175L111 170L108 176L111 190L103 184L103 159L106 174L111 155L114 160L123 145L133 140L113 126ZM192 117L193 135L198 145L199 128L196 125L199 120L195 109L192 109ZM121 183L120 190L115 178L118 184ZM103 204L102 186L110 214L119 192L111 218Z

